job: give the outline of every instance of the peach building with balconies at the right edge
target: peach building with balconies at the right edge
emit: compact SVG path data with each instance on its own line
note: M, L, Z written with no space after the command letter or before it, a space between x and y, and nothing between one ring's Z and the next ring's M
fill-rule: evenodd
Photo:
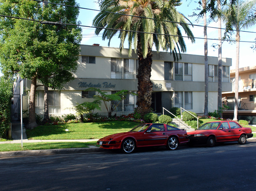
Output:
M232 91L222 88L222 97L226 98L224 104L229 106L229 109L223 112L224 118L234 118L235 73L236 70L230 71ZM256 66L239 68L237 116L238 120L247 120L249 124L256 125Z

